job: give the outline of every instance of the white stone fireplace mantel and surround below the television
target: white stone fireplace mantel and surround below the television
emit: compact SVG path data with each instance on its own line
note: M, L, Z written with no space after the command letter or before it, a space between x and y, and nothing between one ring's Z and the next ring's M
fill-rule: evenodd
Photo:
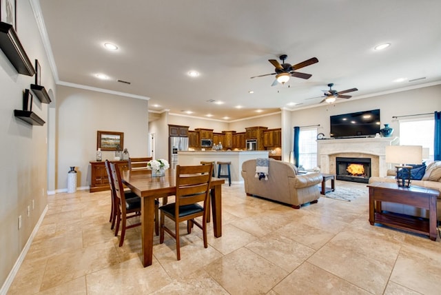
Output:
M398 144L398 137L375 137L356 139L322 139L318 140L318 154L320 155L320 171L335 174L335 155L345 156L357 154L371 158L373 167L372 176L386 176L387 164L385 151L387 145ZM331 160L331 161L330 161Z

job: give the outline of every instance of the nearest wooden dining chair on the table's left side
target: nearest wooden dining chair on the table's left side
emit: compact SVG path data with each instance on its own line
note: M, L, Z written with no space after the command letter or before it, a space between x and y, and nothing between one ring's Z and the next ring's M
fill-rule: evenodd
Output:
M112 172L112 181L115 187L115 205L117 209L116 213L116 229L115 236L118 235L119 226L121 224L121 239L119 240L119 247L124 243L125 230L141 225L141 222L127 225L128 218L134 218L141 216L141 198L139 196L126 199L123 182L121 181L121 170L115 163L110 163L110 171ZM156 235L158 235L159 216L158 216L158 201L155 200L155 213L154 213L154 227Z

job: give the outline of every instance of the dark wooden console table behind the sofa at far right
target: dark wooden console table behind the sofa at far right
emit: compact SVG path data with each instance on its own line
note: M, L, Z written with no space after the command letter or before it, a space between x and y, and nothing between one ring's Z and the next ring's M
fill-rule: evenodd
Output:
M398 187L396 183L371 183L369 187L369 223L381 223L401 230L427 234L436 240L436 201L438 190L425 187ZM399 203L429 210L429 220L416 216L383 212L381 202Z

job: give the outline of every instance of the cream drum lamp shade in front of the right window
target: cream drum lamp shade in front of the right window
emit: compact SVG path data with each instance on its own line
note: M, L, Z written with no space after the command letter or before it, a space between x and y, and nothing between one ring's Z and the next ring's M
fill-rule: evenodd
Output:
M421 164L421 145L388 145L386 147L386 163Z

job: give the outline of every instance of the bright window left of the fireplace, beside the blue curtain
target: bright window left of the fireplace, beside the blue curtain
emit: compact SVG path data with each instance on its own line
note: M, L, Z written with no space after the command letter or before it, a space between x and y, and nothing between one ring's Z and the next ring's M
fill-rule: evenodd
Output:
M317 128L300 128L298 143L298 167L317 167Z

